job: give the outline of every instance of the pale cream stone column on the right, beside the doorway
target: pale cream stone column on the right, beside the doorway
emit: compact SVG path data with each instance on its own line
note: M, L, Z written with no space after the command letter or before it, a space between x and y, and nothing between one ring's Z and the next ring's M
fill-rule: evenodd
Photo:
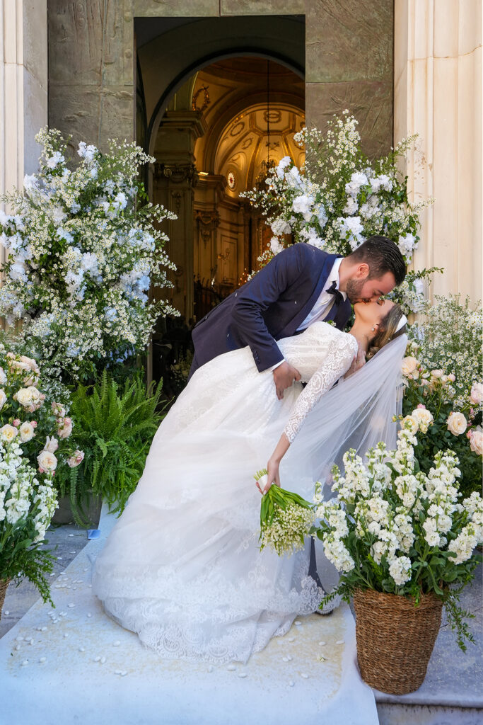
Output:
M419 133L405 172L422 219L417 269L431 295L482 299L482 2L395 0L395 142Z

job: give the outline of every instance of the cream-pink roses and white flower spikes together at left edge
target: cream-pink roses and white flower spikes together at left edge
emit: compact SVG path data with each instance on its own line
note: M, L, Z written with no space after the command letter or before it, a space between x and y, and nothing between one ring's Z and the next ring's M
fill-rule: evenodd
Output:
M23 576L51 601L52 557L42 544L57 508L54 477L84 457L67 405L62 384L44 389L36 361L0 344L0 610L9 580Z

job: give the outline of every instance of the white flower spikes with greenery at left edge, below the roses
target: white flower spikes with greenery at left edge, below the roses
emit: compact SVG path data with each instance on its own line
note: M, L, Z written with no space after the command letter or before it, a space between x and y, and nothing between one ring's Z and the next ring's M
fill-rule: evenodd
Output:
M46 579L54 558L42 547L57 508L54 471L36 473L23 455L19 439L9 441L9 431L4 428L0 434L0 580L20 583L25 576L43 601L54 605Z

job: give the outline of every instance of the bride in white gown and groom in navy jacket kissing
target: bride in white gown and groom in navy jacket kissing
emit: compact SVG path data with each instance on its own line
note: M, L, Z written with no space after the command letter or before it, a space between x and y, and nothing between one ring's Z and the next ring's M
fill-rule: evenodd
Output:
M391 442L406 318L382 298L405 275L382 236L344 258L294 244L193 329L188 386L93 573L106 613L144 645L246 662L317 610L313 545L282 558L259 550L253 473L268 457L266 489L281 468L311 498L349 447Z

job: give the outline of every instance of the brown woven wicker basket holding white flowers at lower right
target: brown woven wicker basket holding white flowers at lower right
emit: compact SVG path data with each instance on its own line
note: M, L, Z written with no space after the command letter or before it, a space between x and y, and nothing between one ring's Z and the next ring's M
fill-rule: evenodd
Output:
M421 687L441 625L442 602L421 595L419 605L393 594L357 589L357 658L374 689L405 695Z

